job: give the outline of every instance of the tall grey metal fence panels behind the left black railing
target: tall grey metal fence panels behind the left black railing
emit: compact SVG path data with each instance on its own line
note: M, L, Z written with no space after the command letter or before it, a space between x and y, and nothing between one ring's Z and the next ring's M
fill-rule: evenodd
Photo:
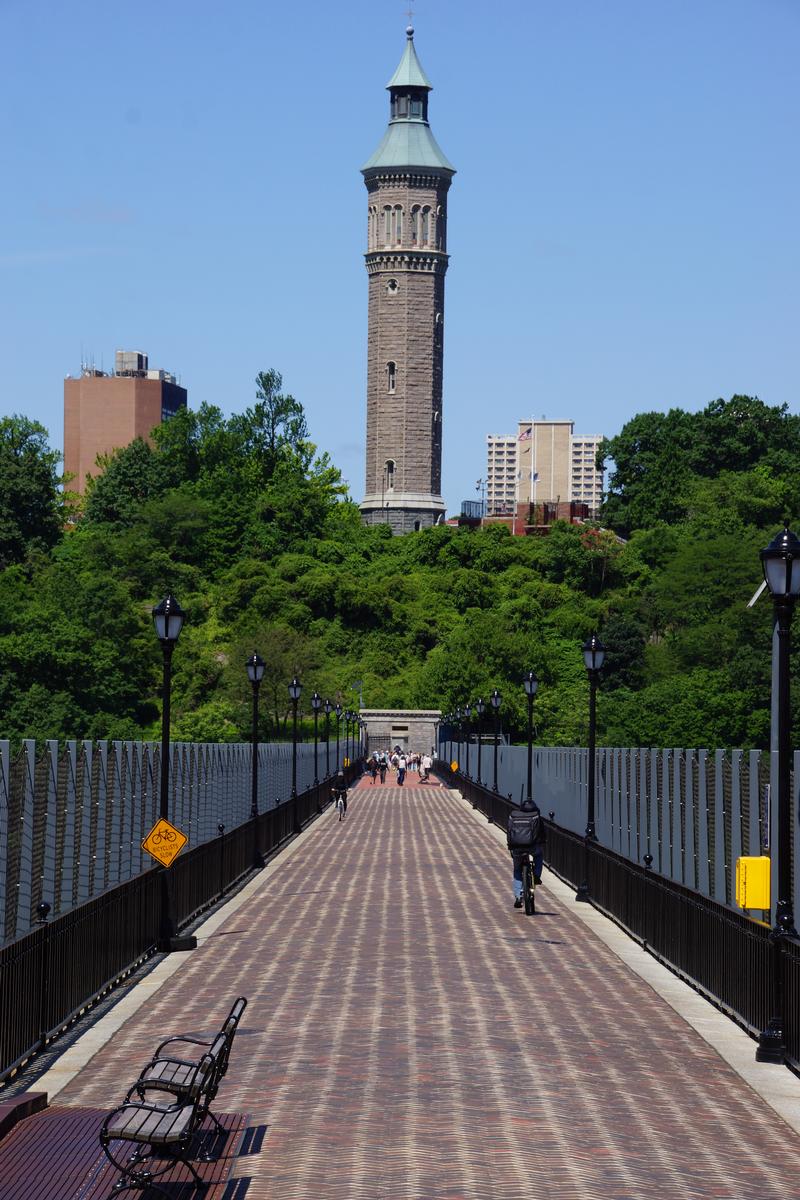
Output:
M259 746L258 809L291 793L291 744ZM196 847L251 812L251 745L174 743L169 816ZM158 816L161 746L151 742L0 742L0 944L23 937L41 901L54 917L151 865L142 840ZM329 755L331 772L333 756ZM317 778L325 778L325 745ZM297 745L297 791L314 782L314 746Z

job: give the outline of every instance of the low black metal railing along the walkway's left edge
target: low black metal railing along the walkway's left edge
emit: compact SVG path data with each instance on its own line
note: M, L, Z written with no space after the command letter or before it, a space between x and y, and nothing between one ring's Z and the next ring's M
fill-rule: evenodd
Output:
M351 781L359 767L349 767ZM174 912L186 926L330 802L321 781L184 851L169 868ZM0 1084L154 954L163 868L151 866L0 947ZM1 1093L0 1093L1 1094Z

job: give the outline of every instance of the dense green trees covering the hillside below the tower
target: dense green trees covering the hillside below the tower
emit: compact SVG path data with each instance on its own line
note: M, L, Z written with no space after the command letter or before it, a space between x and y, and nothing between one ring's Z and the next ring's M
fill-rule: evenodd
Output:
M602 739L766 744L771 614L746 604L759 548L799 508L800 432L786 408L734 397L633 418L604 446L610 528L512 538L437 527L397 539L361 524L308 440L302 406L281 389L263 372L243 413L184 410L152 445L112 455L66 534L44 431L20 418L0 426L0 499L17 514L0 523L0 736L157 736L150 608L172 590L187 611L174 656L179 738L248 736L243 664L257 649L263 737L285 732L295 672L307 727L314 689L347 707L361 680L368 707L445 710L497 686L504 724L522 736L533 668L537 738L582 742L581 643L597 629L608 647ZM19 454L32 456L38 508L11 484L2 491L2 473L20 479Z

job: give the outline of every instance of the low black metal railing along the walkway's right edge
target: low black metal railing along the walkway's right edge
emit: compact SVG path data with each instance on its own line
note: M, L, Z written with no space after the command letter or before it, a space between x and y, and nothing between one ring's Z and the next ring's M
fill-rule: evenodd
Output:
M505 828L516 800L445 763L437 773L473 808ZM541 799L539 800L541 806ZM584 814L585 822L585 814ZM547 820L547 865L576 886L584 877L583 836ZM733 1016L752 1036L775 1013L770 928L704 896L684 883L634 863L599 841L589 846L589 898L655 958ZM786 985L787 1062L800 1070L800 942L782 954Z

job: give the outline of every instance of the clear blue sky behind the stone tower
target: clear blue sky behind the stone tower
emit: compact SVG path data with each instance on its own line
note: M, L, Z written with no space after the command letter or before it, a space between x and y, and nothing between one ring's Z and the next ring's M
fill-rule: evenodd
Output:
M449 206L444 491L530 415L800 404L798 0L417 0ZM0 412L82 348L240 412L277 367L362 494L367 193L403 0L0 0Z

